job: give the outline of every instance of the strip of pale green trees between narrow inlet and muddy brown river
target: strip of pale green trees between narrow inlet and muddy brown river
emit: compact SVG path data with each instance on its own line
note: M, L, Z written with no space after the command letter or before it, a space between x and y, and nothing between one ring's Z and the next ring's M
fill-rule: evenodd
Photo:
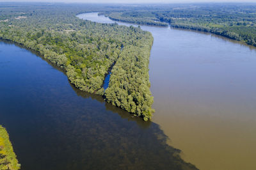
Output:
M131 26L130 29L138 28ZM143 33L144 35L136 37L136 42L130 42L122 50L113 67L109 87L106 89L106 98L113 105L143 116L147 121L154 112L150 107L154 100L149 89L148 75L153 38L150 33Z

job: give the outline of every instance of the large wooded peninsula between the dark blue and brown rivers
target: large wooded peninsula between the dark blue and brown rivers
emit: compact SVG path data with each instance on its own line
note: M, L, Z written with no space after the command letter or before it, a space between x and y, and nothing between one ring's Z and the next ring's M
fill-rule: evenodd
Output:
M148 75L152 35L140 27L99 24L76 17L92 12L91 7L3 4L0 38L39 52L63 68L76 88L102 95L107 102L150 120L154 112ZM111 66L109 86L104 91L103 81Z

